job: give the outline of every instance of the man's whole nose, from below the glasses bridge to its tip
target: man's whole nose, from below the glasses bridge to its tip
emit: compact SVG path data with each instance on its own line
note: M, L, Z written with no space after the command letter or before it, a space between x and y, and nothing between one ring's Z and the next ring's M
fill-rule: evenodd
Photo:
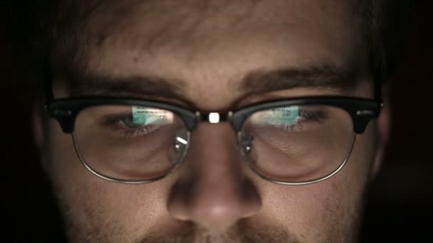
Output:
M200 124L169 195L177 220L223 232L261 209L261 198L227 124Z

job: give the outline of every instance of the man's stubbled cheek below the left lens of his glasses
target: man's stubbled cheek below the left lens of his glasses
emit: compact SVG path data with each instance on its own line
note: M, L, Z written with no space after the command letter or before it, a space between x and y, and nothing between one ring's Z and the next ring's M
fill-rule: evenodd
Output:
M138 237L166 213L161 201L167 192L156 185L160 182L128 185L98 178L80 162L71 135L56 125L46 144L48 173L67 224L78 230L73 234L110 230Z

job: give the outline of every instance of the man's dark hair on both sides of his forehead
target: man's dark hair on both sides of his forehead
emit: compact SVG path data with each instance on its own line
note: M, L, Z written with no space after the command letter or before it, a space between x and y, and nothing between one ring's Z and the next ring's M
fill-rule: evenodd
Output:
M9 2L9 36L17 64L31 75L43 77L53 47L75 55L77 28L100 4L69 0ZM353 0L353 14L365 33L373 75L386 81L404 57L414 6L410 0ZM24 66L23 66L24 65Z

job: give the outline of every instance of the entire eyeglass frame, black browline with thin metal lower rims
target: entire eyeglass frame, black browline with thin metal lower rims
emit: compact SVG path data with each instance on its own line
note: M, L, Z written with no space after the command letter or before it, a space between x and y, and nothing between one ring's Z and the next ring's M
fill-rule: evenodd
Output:
M379 116L380 109L382 108L383 105L382 84L380 81L382 80L381 78L382 75L380 75L380 72L377 72L375 76L376 77L374 79L374 99L343 97L343 96L314 96L314 97L293 97L290 99L272 100L267 102L251 104L246 107L241 107L240 109L236 109L234 112L226 112L224 114L218 113L219 122L229 121L232 128L239 136L244 122L251 114L254 114L254 112L259 112L264 109L272 109L273 107L288 107L291 105L301 105L301 104L323 104L323 105L330 105L333 107L340 107L341 109L344 109L346 112L348 112L348 114L350 114L350 117L353 121L353 131L354 131L353 139L355 139L356 134L362 134L365 131L367 124L371 119L374 119L375 117ZM171 112L174 112L174 114L177 114L184 121L184 124L189 134L191 133L191 131L194 130L198 122L202 122L202 121L211 122L209 115L211 113L215 113L215 112L201 113L198 111L194 112L191 109L180 107L175 104L169 104L166 102L155 102L146 99L135 99L131 97L68 97L68 98L55 99L52 82L53 80L51 77L51 70L48 69L46 72L46 83L45 83L45 91L46 91L45 107L47 113L50 117L53 117L59 122L63 132L71 135L73 135L75 119L80 113L80 111L82 111L85 108L96 106L96 105L130 104L130 105L137 105L143 107L155 107L160 109L167 109ZM352 150L352 146L350 147L350 151ZM256 171L256 174L258 174L261 178L264 178L265 180L271 181L273 183L279 183L283 185L306 185L306 184L316 183L325 180L330 176L334 175L335 173L337 173L338 171L340 171L340 169L343 168L343 166L345 165L345 162L347 161L348 156L350 155L350 151L348 152L345 161L343 161L340 167L337 168L333 173L323 178L319 178L317 180L308 181L308 182L286 183L277 180L272 180L271 178L266 178L264 177L264 175L261 175L261 173L256 171L253 167L251 167L250 163L249 166L251 169L253 169L253 171ZM242 149L241 152L244 153ZM78 156L80 156L80 154L78 154ZM132 184L149 183L155 180L160 180L162 178L165 178L167 175L172 173L172 171L174 171L174 169L177 168L182 162L179 161L179 163L177 163L177 165L174 166L172 170L170 170L165 175L161 175L157 178L152 178L150 180L130 181L130 180L118 180L115 178L107 177L105 175L100 175L98 172L93 171L92 168L89 168L88 165L83 161L83 158L80 157L80 160L83 163L83 165L86 168L88 168L88 170L90 170L90 172L92 172L93 174L97 175L100 178L104 178L105 180L115 181L118 183L132 183Z

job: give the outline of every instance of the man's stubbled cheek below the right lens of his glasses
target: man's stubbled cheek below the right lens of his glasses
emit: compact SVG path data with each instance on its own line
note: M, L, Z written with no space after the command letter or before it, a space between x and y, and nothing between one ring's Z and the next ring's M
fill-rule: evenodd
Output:
M355 236L375 156L374 138L373 129L358 136L345 167L328 180L301 186L264 185L262 215L278 219L289 231L308 238L306 242Z

